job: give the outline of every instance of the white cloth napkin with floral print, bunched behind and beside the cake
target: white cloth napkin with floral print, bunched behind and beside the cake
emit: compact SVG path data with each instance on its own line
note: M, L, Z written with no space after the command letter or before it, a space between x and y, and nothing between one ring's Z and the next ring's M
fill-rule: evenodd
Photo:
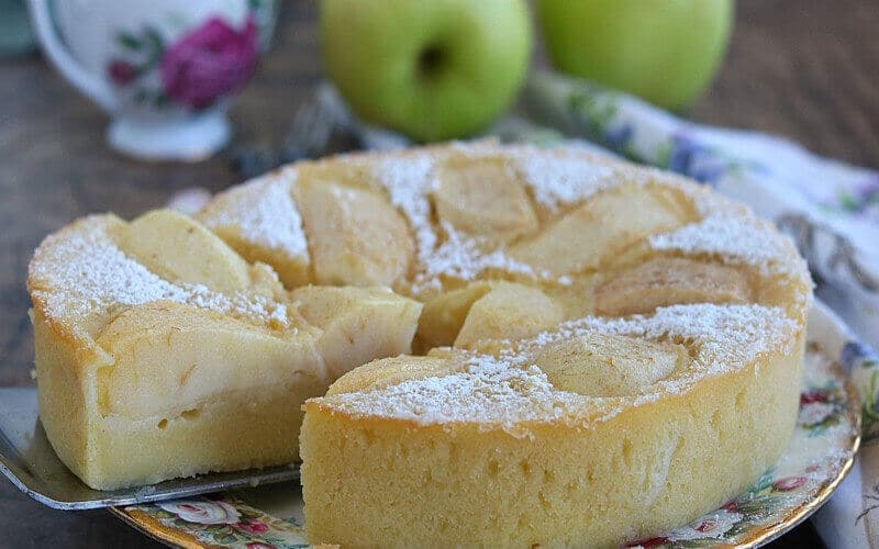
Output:
M318 102L366 148L409 145L352 116L329 85ZM699 125L549 71L531 75L518 112L488 135L581 146L683 173L749 204L794 239L817 295L853 329L836 356L858 388L864 412L855 473L814 524L832 547L879 547L879 522L864 519L879 509L879 355L870 346L879 346L879 171L822 158L778 137Z

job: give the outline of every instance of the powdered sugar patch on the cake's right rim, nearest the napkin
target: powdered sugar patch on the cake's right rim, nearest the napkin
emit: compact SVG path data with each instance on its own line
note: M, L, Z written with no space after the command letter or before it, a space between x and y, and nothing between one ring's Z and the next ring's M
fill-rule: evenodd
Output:
M649 239L656 250L713 254L761 272L790 272L793 245L756 217L714 215Z

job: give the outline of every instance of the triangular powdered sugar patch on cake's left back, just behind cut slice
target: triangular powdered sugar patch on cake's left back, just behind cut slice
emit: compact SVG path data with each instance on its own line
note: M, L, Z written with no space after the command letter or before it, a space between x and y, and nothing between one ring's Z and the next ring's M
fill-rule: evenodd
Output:
M302 216L290 195L294 180L296 170L286 168L229 190L222 208L209 206L201 222L210 228L238 227L254 244L308 261Z

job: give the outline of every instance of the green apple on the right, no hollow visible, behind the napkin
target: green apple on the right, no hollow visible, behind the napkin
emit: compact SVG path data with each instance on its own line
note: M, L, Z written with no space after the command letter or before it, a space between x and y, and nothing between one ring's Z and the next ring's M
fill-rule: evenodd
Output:
M559 70L669 109L696 99L726 51L733 0L537 0Z

